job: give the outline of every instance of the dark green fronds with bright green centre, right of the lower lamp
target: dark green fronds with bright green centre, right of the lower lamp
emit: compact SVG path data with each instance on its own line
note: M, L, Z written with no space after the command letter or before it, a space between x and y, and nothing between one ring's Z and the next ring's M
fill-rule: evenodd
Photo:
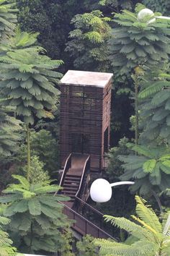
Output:
M120 161L124 174L122 180L135 180L130 186L131 192L139 192L140 195L152 195L153 191L162 192L169 187L170 182L170 151L169 148L151 148L146 145L129 144L135 154L120 155Z

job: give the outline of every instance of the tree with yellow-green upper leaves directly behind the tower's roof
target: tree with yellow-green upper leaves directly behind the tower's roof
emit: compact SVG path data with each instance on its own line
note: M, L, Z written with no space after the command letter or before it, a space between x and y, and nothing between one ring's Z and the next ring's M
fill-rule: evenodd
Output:
M103 17L99 10L77 14L71 20L75 30L69 33L71 40L67 43L66 51L73 57L73 64L79 69L93 71L108 68L107 40L110 27L109 18Z

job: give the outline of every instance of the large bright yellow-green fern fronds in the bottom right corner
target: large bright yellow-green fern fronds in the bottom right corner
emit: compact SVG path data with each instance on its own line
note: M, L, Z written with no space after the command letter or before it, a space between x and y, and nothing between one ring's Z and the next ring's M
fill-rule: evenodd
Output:
M104 216L113 226L117 226L133 236L129 242L119 243L113 240L95 239L94 244L100 247L99 255L114 256L169 256L170 253L170 213L167 218L159 221L153 209L146 201L135 196L137 202L133 221L126 218Z

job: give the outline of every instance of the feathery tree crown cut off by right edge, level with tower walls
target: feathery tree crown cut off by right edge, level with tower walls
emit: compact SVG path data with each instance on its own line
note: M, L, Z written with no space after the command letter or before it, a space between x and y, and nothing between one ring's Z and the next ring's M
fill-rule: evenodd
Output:
M169 70L169 69L168 69ZM170 75L161 73L140 91L141 141L170 142Z

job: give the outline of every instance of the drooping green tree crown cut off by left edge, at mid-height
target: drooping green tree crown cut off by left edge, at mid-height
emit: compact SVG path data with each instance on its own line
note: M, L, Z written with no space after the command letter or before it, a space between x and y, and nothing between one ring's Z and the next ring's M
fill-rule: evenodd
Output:
M20 140L21 122L10 116L10 107L0 106L0 155L9 156L17 149ZM9 113L8 113L9 112Z

